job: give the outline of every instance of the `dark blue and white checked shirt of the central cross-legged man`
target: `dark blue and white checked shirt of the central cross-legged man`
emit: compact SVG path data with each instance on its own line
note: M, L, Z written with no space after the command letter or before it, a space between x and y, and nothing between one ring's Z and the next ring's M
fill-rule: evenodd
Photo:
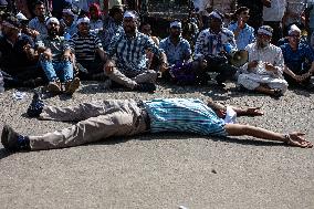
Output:
M115 56L121 72L136 76L147 70L146 50L157 56L163 52L149 36L136 31L135 36L128 38L123 31L113 36L107 54L109 58Z

